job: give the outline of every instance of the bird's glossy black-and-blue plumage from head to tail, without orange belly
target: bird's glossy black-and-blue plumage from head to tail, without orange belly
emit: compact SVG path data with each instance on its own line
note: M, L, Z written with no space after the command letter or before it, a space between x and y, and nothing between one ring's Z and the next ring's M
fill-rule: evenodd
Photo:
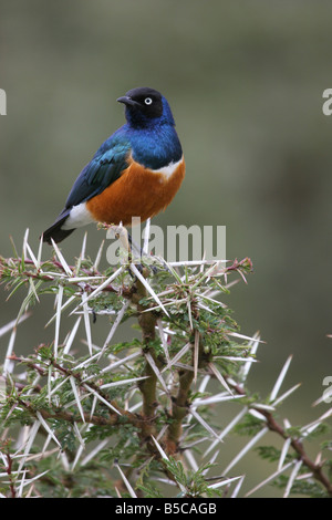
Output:
M60 241L72 208L102 194L115 183L132 160L158 170L181 159L183 150L167 100L153 89L134 89L117 101L125 104L127 123L108 137L76 178L63 211L45 232L44 240ZM69 219L69 220L68 220ZM68 222L66 222L68 220Z

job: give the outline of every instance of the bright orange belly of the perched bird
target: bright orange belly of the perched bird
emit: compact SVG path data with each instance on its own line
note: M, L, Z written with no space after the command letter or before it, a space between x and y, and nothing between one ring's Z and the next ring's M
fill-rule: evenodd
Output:
M87 200L86 208L98 222L129 226L133 217L144 221L169 205L181 185L185 169L183 159L175 171L166 176L133 160L115 183Z

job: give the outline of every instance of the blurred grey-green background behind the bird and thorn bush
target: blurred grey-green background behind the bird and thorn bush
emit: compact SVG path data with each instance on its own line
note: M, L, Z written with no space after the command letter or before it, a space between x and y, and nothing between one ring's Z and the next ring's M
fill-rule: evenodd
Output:
M76 175L123 124L116 97L135 86L162 91L187 175L154 223L227 226L227 257L248 256L255 267L227 303L243 333L260 330L267 342L251 388L266 395L293 354L284 389L302 387L281 416L310 422L328 408L311 403L332 374L332 117L322 113L331 49L329 1L2 0L0 253L11 254L10 235L21 247L27 227L37 248ZM92 257L102 233L89 229ZM69 260L82 237L63 242ZM4 305L1 292L0 326L22 297ZM49 303L21 325L17 350L48 341ZM107 331L98 320L96 334ZM251 460L251 485L274 470Z

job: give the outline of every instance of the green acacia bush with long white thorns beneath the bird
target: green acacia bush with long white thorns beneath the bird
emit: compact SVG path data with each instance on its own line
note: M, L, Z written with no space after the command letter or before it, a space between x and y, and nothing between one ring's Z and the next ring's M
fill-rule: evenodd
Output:
M276 410L298 387L281 389L291 357L268 396L247 385L261 340L240 332L225 297L236 280L247 281L251 261L155 258L152 268L149 258L137 266L129 256L102 271L102 247L91 259L85 245L86 236L72 263L56 245L42 260L42 242L33 252L27 232L21 254L0 257L3 289L24 291L17 318L0 329L9 335L1 351L1 496L242 497L246 477L236 468L252 449L273 470L246 496L267 485L283 497L331 496L324 422L332 409L302 427L278 422ZM41 343L23 356L17 329L33 322L32 305L45 294L55 301L54 340L43 343L40 331ZM114 342L129 319L141 339ZM101 345L93 341L96 320L110 323ZM238 412L222 424L229 402ZM281 448L260 445L269 431ZM323 441L313 460L305 443L318 434ZM231 435L249 441L225 467Z

